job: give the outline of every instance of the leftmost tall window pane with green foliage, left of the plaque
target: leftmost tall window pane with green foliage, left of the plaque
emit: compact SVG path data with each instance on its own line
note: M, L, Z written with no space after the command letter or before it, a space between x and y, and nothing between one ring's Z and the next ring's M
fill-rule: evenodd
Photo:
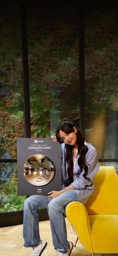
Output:
M0 212L22 209L17 196L16 138L23 137L19 7L0 6Z

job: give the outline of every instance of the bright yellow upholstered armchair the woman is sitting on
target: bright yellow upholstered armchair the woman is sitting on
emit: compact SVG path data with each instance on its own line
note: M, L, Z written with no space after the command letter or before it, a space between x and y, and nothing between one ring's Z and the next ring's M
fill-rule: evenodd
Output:
M85 205L70 202L65 214L83 247L94 253L118 253L118 176L113 166L100 166L94 192Z

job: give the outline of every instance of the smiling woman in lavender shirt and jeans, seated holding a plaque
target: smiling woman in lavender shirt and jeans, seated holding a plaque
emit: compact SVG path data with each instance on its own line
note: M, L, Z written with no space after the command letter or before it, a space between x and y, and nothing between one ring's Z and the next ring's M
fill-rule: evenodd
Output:
M98 170L95 148L84 141L78 127L70 120L64 120L51 136L54 142L62 143L62 177L60 191L50 191L48 196L32 195L24 201L23 237L24 246L32 247L32 255L39 256L47 245L40 240L38 210L47 208L52 241L58 256L68 256L73 248L67 241L64 208L71 201L83 204L94 190L92 179Z

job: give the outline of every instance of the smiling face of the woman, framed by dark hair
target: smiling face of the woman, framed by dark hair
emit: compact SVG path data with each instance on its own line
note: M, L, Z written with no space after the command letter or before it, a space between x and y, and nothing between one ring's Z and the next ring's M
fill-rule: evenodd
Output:
M69 134L60 130L59 137L65 144L76 147L76 132L77 132L77 129L75 127L73 127L73 132Z

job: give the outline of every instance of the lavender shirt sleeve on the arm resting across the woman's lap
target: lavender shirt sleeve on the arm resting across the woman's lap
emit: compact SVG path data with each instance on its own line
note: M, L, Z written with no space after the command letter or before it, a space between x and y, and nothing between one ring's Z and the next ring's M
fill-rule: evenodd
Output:
M92 179L99 168L96 149L92 149L87 154L85 161L88 167L86 178L83 177L84 169L82 169L79 176L76 175L76 179L71 183L76 189L85 189L92 185Z

